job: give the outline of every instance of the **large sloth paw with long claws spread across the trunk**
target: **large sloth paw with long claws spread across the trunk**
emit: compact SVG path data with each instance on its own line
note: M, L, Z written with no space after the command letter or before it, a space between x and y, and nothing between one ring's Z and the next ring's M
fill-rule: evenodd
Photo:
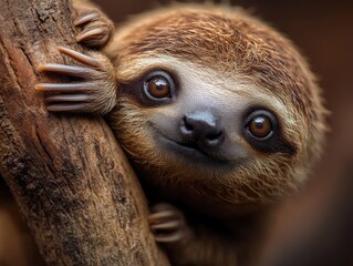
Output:
M116 103L116 83L113 65L102 54L89 55L74 50L58 47L61 53L80 62L81 65L41 64L38 69L74 78L68 83L40 83L37 91L50 92L45 95L46 109L51 112L76 112L103 115Z

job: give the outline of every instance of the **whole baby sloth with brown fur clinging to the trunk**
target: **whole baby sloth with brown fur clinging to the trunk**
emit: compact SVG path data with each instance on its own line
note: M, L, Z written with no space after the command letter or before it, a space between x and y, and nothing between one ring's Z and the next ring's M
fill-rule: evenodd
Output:
M290 41L240 9L181 4L113 23L74 1L73 76L38 84L51 112L105 115L153 204L173 265L248 265L266 214L319 157L324 108ZM105 45L107 43L107 45ZM103 55L105 54L105 55Z

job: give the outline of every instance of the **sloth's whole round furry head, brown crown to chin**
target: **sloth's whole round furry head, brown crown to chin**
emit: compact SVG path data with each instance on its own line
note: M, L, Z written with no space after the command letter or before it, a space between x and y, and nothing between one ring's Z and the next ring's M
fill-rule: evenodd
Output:
M238 9L184 6L125 25L107 48L111 122L152 181L229 205L295 191L324 132L319 88L290 41Z

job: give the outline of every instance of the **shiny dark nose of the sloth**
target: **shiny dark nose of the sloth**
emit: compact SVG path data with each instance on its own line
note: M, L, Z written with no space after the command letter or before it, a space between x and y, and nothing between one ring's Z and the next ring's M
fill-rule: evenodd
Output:
M225 140L225 133L218 119L210 112L196 112L184 116L180 132L188 144L201 150L218 147Z

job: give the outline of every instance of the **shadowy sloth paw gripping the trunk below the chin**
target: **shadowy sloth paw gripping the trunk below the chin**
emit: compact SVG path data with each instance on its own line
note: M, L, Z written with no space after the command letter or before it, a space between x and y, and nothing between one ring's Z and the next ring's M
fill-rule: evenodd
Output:
M153 206L148 222L158 243L175 243L187 236L188 226L183 213L170 204Z

